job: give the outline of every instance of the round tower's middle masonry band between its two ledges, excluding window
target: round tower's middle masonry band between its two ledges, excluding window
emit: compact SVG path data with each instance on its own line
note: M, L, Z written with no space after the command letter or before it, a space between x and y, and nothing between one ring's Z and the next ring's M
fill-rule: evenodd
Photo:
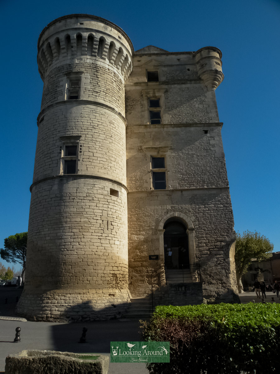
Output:
M60 174L60 137L80 135L78 174L99 175L126 183L125 123L115 112L96 105L57 105L39 123L34 182Z

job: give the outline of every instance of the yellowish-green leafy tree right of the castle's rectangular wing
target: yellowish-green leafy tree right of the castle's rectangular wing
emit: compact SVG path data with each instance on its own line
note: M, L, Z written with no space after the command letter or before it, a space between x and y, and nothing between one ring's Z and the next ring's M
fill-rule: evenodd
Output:
M258 232L244 231L241 235L236 234L235 245L235 267L238 292L241 293L243 286L241 277L247 272L248 266L252 263L252 258L257 261L267 260L273 251L273 244Z

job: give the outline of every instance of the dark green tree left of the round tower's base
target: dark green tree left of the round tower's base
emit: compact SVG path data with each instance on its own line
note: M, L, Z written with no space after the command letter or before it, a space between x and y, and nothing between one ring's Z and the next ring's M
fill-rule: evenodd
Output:
M19 263L22 266L22 282L24 282L26 262L27 232L11 235L4 239L4 249L0 249L0 256L7 262Z

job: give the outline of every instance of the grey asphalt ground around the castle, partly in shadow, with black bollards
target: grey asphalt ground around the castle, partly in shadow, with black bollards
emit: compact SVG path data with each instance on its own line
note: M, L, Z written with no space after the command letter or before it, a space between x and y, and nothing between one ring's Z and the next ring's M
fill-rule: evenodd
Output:
M22 290L10 287L0 288L0 374L4 373L5 358L25 349L57 350L75 353L100 353L110 356L111 341L141 341L140 323L137 319L117 319L110 321L95 321L83 323L55 323L55 322L20 322L7 321L3 316L14 317L16 297ZM243 304L255 300L261 303L255 292L240 294ZM265 302L279 303L276 294L267 292ZM5 299L7 298L7 304ZM14 343L15 329L21 328L21 341ZM78 343L83 331L87 327L87 343ZM109 363L108 374L147 374L144 363Z

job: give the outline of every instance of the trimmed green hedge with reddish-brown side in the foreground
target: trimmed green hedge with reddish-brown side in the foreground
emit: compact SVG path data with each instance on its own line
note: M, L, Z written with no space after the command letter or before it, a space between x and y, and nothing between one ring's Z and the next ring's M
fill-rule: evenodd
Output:
M151 374L280 373L280 304L158 306L143 339L170 341Z

